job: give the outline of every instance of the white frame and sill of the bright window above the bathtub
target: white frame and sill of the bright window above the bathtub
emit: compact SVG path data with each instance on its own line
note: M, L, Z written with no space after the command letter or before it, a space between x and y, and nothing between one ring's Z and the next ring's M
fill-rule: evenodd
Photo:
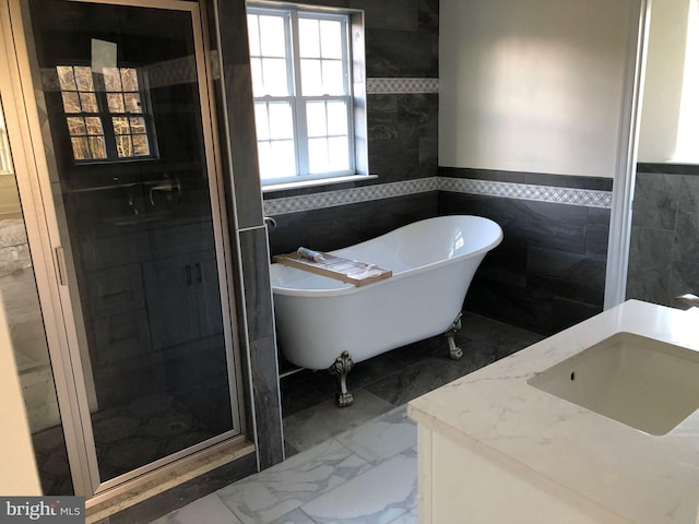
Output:
M366 177L365 169L362 165L366 165L366 152L357 155L356 141L357 141L357 107L355 100L358 98L364 100L364 93L359 94L355 92L355 84L353 80L353 68L356 68L357 60L353 56L352 38L353 14L346 10L328 10L316 9L313 7L301 7L297 4L280 4L266 5L263 2L250 2L248 3L248 14L271 14L283 16L285 20L285 43L287 49L287 79L288 79L288 96L254 96L254 104L269 104L274 102L288 103L292 107L292 118L294 120L294 150L296 155L296 172L291 176L281 177L266 177L261 179L263 189L284 189L285 187L296 187L304 184L313 184L322 182L344 181L348 178L359 176ZM313 95L304 96L301 92L301 78L300 78L300 55L299 37L298 37L298 20L299 19L313 19L313 20L335 20L343 24L343 43L342 43L342 67L344 74L344 95ZM254 56L254 58L263 58ZM364 57L359 60L359 63L364 63ZM323 172L310 172L309 168L309 151L308 151L308 130L307 130L307 116L306 107L308 102L313 100L343 100L347 108L347 150L348 150L348 168L336 171L323 171ZM362 104L364 106L364 104ZM365 116L365 111L359 112L362 117ZM362 126L364 124L364 126ZM359 128L366 128L366 122L360 122ZM364 133L362 133L364 134ZM331 135L328 135L331 136ZM261 142L261 141L260 141ZM364 160L363 160L364 158Z

